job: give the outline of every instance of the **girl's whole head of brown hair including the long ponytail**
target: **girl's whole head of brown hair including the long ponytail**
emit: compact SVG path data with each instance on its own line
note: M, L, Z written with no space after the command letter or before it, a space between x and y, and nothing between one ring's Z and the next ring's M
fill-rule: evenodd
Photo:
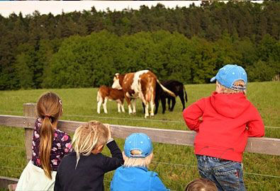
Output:
M50 151L55 122L62 115L62 102L57 94L52 92L44 93L37 102L37 115L43 119L40 127L40 149L39 158L41 166L47 178L52 179L50 166Z

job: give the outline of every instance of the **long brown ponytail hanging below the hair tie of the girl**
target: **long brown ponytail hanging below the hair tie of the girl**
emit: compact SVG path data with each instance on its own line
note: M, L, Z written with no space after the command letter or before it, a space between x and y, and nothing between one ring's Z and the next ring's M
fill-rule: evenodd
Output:
M40 163L47 178L52 179L50 150L52 149L53 128L51 118L46 116L40 128Z

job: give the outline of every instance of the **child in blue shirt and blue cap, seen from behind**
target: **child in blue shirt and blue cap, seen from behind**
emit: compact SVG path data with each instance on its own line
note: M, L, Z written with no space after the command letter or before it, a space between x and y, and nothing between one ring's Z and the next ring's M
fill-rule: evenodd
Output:
M147 134L134 133L125 139L123 158L125 163L113 175L111 190L169 190L157 173L148 171L152 161L152 141Z

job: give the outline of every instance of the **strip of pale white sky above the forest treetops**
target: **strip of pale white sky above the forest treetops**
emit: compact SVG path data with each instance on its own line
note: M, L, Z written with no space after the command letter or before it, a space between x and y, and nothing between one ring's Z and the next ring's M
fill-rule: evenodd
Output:
M164 4L167 8L175 8L176 6L189 6L190 4L199 6L201 1L0 1L1 16L8 17L11 13L22 13L23 16L39 11L40 14L52 13L53 15L61 14L62 10L72 11L90 11L94 6L96 11L122 11L124 8L138 9L141 5L156 6L157 3Z

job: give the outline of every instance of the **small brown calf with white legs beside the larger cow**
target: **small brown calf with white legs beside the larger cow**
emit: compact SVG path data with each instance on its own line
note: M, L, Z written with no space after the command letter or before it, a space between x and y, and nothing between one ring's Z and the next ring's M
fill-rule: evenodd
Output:
M123 100L125 96L122 90L118 90L115 88L100 86L99 91L97 92L97 112L100 113L101 104L103 104L103 110L105 113L107 111L107 100L116 100L118 103L118 112L125 112L125 108L123 107Z

